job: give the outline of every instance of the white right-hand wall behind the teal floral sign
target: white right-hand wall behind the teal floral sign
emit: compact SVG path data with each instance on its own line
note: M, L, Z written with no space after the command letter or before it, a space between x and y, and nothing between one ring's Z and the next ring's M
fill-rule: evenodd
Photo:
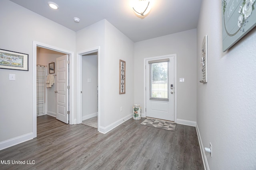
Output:
M203 0L197 29L197 124L210 170L256 169L256 28L222 53L221 1ZM255 12L255 11L253 11ZM208 83L201 45L208 35Z

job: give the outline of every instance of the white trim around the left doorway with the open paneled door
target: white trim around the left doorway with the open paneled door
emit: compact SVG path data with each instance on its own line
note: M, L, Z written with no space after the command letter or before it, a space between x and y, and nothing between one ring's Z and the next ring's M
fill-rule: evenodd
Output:
M74 52L68 51L65 49L60 49L58 47L54 47L51 45L47 45L44 43L40 43L37 41L33 41L33 66L32 66L32 72L33 72L33 137L35 138L37 136L37 121L36 121L36 47L42 47L45 49L50 49L53 51L58 51L61 53L65 53L67 55L70 55L70 72L69 72L69 77L70 77L70 115L69 115L69 124L73 125L74 122Z

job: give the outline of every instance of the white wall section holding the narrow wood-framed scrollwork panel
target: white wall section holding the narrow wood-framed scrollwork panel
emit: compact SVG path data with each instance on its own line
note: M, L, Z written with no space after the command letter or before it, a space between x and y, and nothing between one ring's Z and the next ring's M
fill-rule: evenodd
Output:
M104 126L132 117L134 105L134 42L105 20ZM119 60L126 61L126 93L119 94ZM120 111L122 107L122 111Z

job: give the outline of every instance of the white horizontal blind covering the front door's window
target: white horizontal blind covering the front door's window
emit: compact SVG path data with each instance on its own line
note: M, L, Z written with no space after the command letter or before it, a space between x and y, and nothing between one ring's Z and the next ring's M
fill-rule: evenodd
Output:
M150 100L169 100L169 59L148 62L150 65Z

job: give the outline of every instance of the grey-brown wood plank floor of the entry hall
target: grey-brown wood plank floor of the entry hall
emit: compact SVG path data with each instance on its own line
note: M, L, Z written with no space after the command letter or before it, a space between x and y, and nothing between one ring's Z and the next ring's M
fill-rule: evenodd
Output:
M174 132L129 119L107 134L86 125L67 125L44 115L37 138L0 151L0 169L203 170L195 127ZM12 164L12 161L34 164ZM32 162L34 160L34 162Z

